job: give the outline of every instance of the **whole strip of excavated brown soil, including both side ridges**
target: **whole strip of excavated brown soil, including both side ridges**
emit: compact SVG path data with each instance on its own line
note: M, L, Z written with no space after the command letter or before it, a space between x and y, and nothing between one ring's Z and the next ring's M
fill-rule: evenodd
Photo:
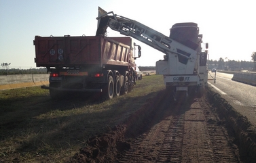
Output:
M211 89L177 102L162 91L70 162L255 162L255 140L246 117Z

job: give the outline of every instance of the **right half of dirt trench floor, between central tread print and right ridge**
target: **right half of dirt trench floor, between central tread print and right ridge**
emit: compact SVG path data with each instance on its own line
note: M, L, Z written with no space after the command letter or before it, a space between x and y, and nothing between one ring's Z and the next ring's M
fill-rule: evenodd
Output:
M182 162L240 162L219 120L202 98L185 112Z

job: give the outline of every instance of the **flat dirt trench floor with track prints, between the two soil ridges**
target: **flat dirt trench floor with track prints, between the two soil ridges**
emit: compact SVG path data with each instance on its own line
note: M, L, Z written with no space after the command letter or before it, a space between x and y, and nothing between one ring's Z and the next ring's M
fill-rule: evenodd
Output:
M240 162L238 148L206 101L199 98L187 104L162 104L155 125L117 162Z

